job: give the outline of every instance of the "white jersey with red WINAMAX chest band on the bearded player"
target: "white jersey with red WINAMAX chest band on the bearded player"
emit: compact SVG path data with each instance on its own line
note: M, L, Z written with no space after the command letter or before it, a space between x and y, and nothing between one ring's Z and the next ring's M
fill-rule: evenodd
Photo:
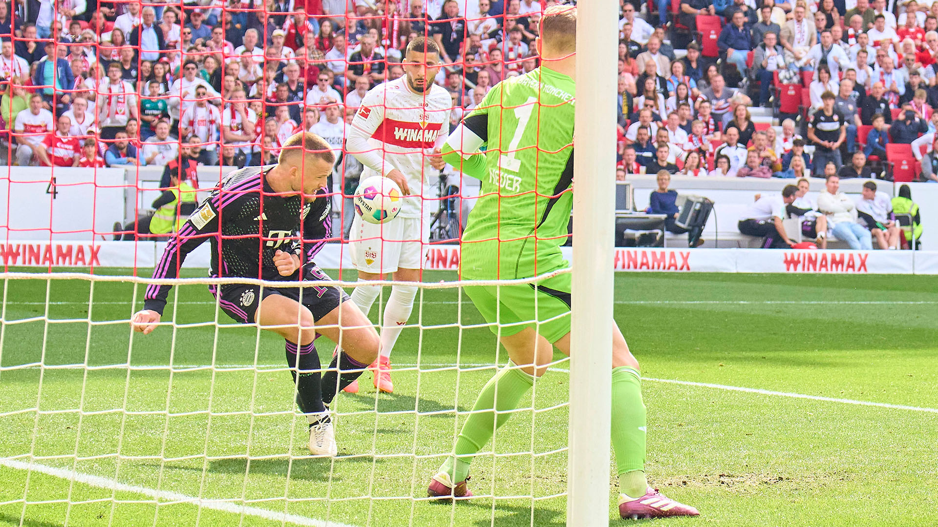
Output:
M372 88L362 99L352 127L369 137L372 153L407 177L412 197L404 198L399 216L420 218L437 208L436 193L429 185L429 178L439 171L431 167L424 154L431 154L433 148L446 141L452 100L446 89L436 84L429 93L417 95L406 82L404 75ZM351 147L349 151L365 165L362 179L375 174L366 156L359 156ZM427 207L422 207L422 200L416 196L431 201Z

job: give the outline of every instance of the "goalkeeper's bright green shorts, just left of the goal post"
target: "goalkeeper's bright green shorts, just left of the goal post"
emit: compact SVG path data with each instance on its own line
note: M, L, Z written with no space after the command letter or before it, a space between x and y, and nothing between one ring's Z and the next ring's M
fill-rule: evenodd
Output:
M535 283L499 286L467 286L492 333L508 337L534 327L553 343L570 332L570 274Z

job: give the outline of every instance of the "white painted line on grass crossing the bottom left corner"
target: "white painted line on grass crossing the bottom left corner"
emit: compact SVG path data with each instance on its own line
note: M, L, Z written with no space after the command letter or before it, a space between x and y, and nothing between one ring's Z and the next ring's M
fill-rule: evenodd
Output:
M222 512L230 512L232 514L256 516L258 518L279 521L280 523L286 522L294 523L296 525L310 525L311 527L356 527L355 525L349 525L347 523L323 521L322 519L307 518L305 516L298 516L295 514L285 514L265 508L252 507L243 504L234 504L223 500L206 500L204 498L197 498L195 496L189 496L179 492L171 492L169 490L148 489L146 487L128 485L108 477L84 474L63 468L42 465L39 463L27 463L25 461L18 461L16 459L0 459L0 465L9 467L11 469L32 471L41 474L52 475L54 477L61 477L63 479L68 479L69 481L74 481L75 483L83 483L84 485L90 485L91 487L98 487L100 489L109 489L118 492L133 492L166 502L194 504L203 508L219 510Z

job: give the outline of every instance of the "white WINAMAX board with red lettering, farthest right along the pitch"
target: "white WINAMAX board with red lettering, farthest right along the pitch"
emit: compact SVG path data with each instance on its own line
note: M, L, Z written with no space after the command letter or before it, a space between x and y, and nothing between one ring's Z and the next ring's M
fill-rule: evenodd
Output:
M911 274L910 250L728 249L738 273Z

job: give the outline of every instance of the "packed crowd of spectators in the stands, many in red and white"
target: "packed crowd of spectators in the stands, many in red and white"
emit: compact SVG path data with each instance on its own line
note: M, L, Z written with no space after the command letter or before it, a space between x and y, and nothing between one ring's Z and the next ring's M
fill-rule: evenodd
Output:
M892 1L620 0L620 177L797 178L828 162L872 177L888 144L908 143L938 181L938 3ZM3 146L21 166L185 173L266 163L300 129L340 151L364 94L401 76L401 50L421 35L443 49L436 82L456 123L494 83L537 67L553 3L0 2ZM787 85L803 88L794 113ZM780 132L754 123L752 105L774 108Z

